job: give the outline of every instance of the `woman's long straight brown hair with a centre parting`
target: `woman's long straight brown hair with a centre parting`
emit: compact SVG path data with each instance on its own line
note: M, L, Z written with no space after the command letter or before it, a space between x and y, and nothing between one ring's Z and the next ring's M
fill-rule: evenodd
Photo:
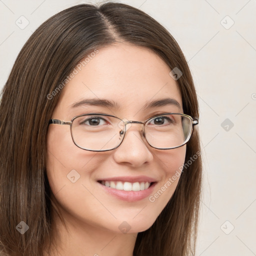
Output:
M47 95L86 54L122 41L150 48L170 70L181 70L177 84L183 111L198 118L195 88L183 53L149 15L107 2L72 6L50 17L21 49L1 94L0 255L42 256L53 241L55 204L45 174L46 135L60 93L51 99ZM185 162L196 152L153 225L138 233L134 256L194 255L201 189L199 135L194 129ZM29 227L24 234L16 228L20 221Z

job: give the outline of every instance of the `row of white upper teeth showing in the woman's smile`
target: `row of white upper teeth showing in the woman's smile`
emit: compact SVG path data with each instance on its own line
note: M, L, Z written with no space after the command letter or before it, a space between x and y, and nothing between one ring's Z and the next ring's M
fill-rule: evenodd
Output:
M122 182L122 181L101 181L102 185L124 191L139 191L147 189L150 182Z

